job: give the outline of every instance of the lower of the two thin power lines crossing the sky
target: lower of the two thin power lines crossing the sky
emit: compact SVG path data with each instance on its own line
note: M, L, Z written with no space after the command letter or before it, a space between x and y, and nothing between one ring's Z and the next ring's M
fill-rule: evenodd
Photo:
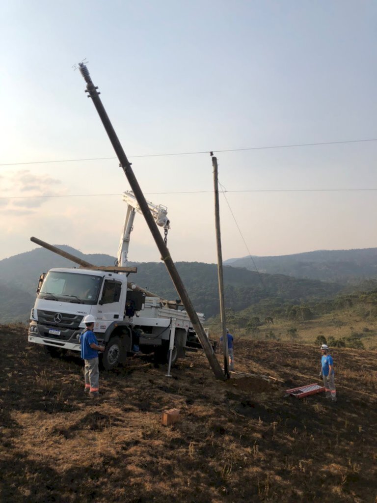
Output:
M376 192L376 189L244 189L244 190L224 190L223 193L251 193L251 192ZM146 196L162 195L182 195L182 194L213 194L211 190L177 191L177 192L146 192ZM42 196L0 196L0 199L43 199L55 197L101 197L101 196L121 196L122 193L104 194L51 194Z

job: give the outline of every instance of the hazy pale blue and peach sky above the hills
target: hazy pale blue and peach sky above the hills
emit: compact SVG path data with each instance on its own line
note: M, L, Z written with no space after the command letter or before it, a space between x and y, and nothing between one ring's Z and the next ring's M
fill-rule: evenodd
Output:
M117 253L130 187L84 59L146 199L168 209L173 260L217 260L211 150L224 260L377 246L377 141L255 149L377 138L375 2L1 5L0 260L32 235ZM142 215L129 260L160 260Z

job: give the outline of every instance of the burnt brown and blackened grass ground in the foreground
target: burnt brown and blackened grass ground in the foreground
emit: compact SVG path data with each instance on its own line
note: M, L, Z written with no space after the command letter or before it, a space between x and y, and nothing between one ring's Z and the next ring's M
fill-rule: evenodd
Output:
M374 352L332 352L335 404L285 397L320 382L318 348L248 340L236 340L236 370L286 385L216 381L200 353L172 378L139 357L102 372L93 402L79 358L51 359L25 328L0 337L2 502L377 501ZM172 407L180 422L161 426Z

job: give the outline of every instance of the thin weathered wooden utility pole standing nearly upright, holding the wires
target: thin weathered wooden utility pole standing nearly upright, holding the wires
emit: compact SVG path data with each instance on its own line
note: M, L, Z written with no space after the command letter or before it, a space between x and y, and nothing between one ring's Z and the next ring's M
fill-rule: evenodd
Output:
M219 297L220 297L220 318L221 332L223 334L223 352L224 352L224 373L229 379L229 352L228 352L228 332L226 329L225 301L224 301L224 277L223 277L223 254L221 251L221 232L220 232L220 205L219 205L219 183L217 172L217 158L211 152L213 165L213 183L215 192L215 222L216 222L216 243L217 243L217 274L219 277Z

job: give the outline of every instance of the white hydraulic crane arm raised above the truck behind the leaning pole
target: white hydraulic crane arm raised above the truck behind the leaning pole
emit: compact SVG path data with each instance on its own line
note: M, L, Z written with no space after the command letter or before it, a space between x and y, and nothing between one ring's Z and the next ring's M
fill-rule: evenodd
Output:
M123 201L127 203L127 213L124 220L123 232L118 248L118 266L126 267L128 258L128 249L130 245L130 234L133 229L133 223L136 211L142 214L139 203L136 200L133 192L124 192ZM163 227L164 230L170 228L170 220L167 218L167 208L161 204L156 205L150 201L146 201L148 208L157 225Z

